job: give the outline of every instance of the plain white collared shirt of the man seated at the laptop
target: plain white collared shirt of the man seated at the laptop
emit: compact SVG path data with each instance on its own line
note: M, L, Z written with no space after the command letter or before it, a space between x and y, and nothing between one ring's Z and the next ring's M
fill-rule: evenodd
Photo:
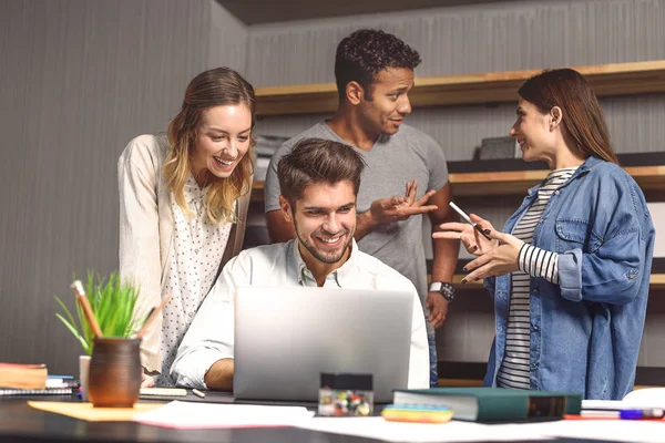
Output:
M300 257L297 240L247 249L231 259L201 306L177 351L171 377L178 385L207 389L204 377L213 363L233 359L235 288L252 285L317 286ZM413 312L408 385L410 389L429 388L424 318L420 298L411 281L377 258L360 251L354 240L349 259L326 277L324 287L411 291Z

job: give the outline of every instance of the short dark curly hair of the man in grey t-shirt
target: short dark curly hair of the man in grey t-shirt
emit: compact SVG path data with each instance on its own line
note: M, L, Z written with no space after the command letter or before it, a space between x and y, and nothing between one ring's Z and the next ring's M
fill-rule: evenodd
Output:
M360 29L337 45L335 80L339 102L346 97L346 85L358 82L365 91L387 68L415 70L421 62L418 51L397 37L376 29ZM371 100L369 93L366 96Z

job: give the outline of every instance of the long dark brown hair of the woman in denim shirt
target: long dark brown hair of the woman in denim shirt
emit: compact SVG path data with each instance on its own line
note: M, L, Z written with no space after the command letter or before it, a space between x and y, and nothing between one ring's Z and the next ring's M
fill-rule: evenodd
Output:
M569 68L543 71L526 80L518 93L542 113L561 107L563 137L575 154L618 163L610 144L603 109L577 71Z

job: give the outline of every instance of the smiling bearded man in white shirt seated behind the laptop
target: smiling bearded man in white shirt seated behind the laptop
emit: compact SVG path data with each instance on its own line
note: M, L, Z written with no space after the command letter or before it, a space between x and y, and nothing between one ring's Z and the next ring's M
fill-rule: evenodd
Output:
M244 250L228 261L171 368L177 385L233 388L235 288L252 285L411 291L411 349L410 356L405 356L410 359L408 385L429 385L427 332L416 287L395 269L360 251L354 240L362 168L362 158L351 147L320 138L298 142L280 159L279 204L295 226L296 238Z

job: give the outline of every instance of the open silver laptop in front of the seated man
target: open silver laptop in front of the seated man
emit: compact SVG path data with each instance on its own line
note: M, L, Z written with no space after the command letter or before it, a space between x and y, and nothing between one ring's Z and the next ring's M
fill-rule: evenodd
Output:
M371 373L377 403L406 389L413 296L406 291L241 287L236 399L318 401L321 372Z

